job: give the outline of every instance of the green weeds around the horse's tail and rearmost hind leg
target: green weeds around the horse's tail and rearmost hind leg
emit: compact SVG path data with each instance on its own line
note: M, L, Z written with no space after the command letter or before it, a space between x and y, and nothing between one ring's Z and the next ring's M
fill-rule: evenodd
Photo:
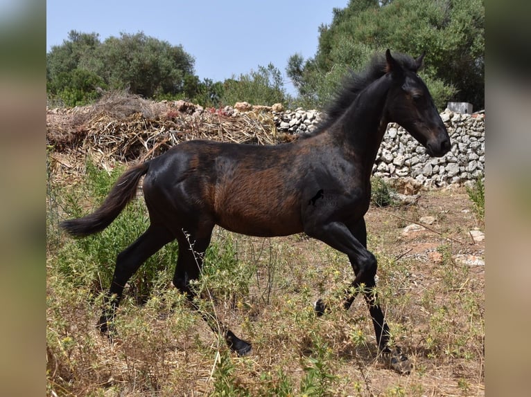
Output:
M110 188L123 172L116 167L108 174L87 163L85 181L78 187L64 190L62 209L68 218L83 215L79 203L89 201L90 210L105 199ZM116 255L127 248L148 228L146 209L140 200L132 201L103 232L84 239L69 239L57 252L57 268L61 279L70 286L88 287L97 294L111 283ZM156 284L167 284L177 261L177 245L170 243L141 266L129 282L128 295L136 302L145 302Z

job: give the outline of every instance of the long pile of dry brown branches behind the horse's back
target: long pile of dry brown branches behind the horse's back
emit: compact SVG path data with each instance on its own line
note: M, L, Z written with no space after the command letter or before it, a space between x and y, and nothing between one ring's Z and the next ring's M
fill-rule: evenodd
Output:
M111 93L89 107L48 109L46 144L57 172L82 172L90 156L103 167L137 162L193 139L274 145L293 140L278 133L271 113L227 116L220 109L183 109L177 102L152 102Z

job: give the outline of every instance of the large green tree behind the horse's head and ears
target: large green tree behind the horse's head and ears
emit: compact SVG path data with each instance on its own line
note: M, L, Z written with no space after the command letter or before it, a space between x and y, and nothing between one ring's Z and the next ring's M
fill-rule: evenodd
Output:
M303 65L293 55L288 62L288 76L302 97L322 104L340 84L334 68L361 71L374 53L390 48L413 56L426 51L419 74L439 109L448 100L484 107L482 0L352 0L333 12L331 25L320 28L315 57Z

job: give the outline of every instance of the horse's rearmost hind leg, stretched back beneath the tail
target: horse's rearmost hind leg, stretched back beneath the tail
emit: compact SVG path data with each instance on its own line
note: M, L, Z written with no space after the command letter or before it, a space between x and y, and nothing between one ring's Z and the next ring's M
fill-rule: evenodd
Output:
M169 230L152 224L134 243L119 253L118 257L116 257L112 284L105 296L103 313L98 322L98 328L102 333L110 335L110 332L113 331L112 319L120 304L123 288L131 276L146 259L173 239L174 237Z

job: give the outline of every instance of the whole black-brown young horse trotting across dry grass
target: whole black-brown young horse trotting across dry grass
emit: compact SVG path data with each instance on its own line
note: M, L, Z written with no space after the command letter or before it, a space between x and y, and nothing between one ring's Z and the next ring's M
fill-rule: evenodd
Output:
M94 213L62 222L73 236L100 232L134 198L145 175L143 196L150 226L116 259L98 324L101 331L111 331L123 288L133 273L170 241L179 243L173 284L193 300L190 281L200 277L202 254L214 225L261 237L305 232L348 255L355 277L345 290L345 308L354 302L353 291L361 289L378 348L388 353L395 369L407 370L406 356L388 346L390 331L374 290L376 258L367 250L363 216L369 208L372 166L389 122L408 130L432 156L443 156L451 148L433 99L417 75L423 57L393 57L389 50L385 57L374 57L365 73L344 82L327 118L305 138L277 146L183 142L128 169ZM321 205L330 196L333 205ZM318 315L326 308L322 300L315 304ZM218 329L209 315L204 317ZM222 329L233 351L250 351L248 342Z

